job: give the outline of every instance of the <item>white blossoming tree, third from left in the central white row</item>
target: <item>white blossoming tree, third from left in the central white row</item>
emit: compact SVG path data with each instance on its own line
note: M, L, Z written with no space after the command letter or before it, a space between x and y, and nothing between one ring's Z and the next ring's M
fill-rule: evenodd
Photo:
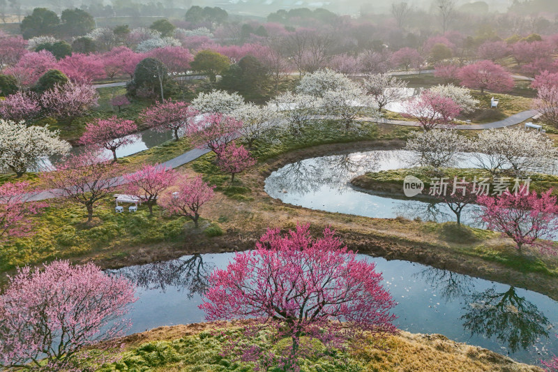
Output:
M308 126L310 119L322 110L322 98L309 94L292 94L287 91L277 96L271 103L276 107L287 128L291 133L300 133Z

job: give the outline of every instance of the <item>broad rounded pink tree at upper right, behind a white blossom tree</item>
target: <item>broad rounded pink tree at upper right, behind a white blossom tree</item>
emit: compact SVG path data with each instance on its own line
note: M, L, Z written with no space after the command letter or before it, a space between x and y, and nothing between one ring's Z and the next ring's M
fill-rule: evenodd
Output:
M480 89L481 94L485 89L497 92L511 91L514 85L510 73L492 61L478 61L467 65L461 68L458 77L465 87Z

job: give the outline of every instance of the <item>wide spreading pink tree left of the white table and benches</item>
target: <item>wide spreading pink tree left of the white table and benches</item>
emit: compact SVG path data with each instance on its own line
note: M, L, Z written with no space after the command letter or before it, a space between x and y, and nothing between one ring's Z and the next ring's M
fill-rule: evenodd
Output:
M56 169L42 172L40 177L53 188L54 195L82 204L87 209L87 222L91 222L93 207L120 184L117 176L122 170L110 158L84 151L69 156L56 165Z

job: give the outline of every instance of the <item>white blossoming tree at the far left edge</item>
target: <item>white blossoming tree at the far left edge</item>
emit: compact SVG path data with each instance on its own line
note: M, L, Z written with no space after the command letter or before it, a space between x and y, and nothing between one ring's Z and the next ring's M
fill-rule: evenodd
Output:
M13 170L21 177L27 170L36 169L44 158L65 155L71 145L60 140L58 131L47 126L27 126L0 119L0 170Z

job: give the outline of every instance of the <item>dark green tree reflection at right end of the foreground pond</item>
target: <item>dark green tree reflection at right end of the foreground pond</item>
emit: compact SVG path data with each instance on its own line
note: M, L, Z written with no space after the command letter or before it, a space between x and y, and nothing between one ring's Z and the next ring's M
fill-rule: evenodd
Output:
M472 293L468 299L466 313L461 319L471 334L495 336L511 352L529 348L541 336L548 337L550 322L544 313L525 297L518 296L513 287L502 293L492 287Z

